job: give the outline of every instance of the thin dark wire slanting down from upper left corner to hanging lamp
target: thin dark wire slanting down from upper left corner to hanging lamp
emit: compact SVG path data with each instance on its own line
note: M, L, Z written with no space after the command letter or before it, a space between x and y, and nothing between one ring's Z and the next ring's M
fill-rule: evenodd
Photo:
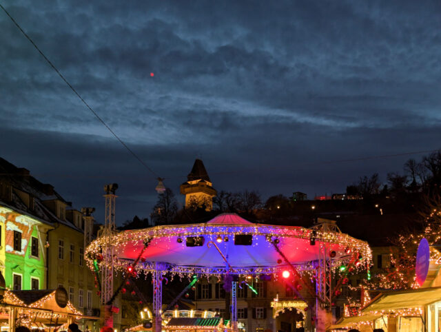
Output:
M43 58L45 59L45 61L47 63L49 63L50 67L57 72L57 74L61 77L61 79L68 85L68 87L70 87L70 90L72 90L74 92L74 94L76 94L76 96L83 102L83 104L88 107L88 110L90 110L90 112L92 112L92 114L94 114L94 116L104 125L104 127L107 128L107 130L119 141L119 143L121 143L121 145L123 145L123 147L125 147L125 149L127 149L128 152L130 152L130 154L132 154L132 156L134 156L134 158L136 158L136 160L139 161L139 163L141 163L141 165L143 165L148 171L150 171L150 173L154 174L155 178L159 178L158 174L156 174L153 169L151 169L146 163L144 163L144 161L137 155L134 153L134 151L132 149L130 149L130 147L127 146L127 144L124 143L124 141L112 130L112 128L109 127L109 125L107 125L107 123L105 123L105 121L103 120L103 118L101 118L101 116L99 116L93 109L92 107L84 100L84 98L75 90L75 88L69 83L69 81L67 79L65 79L65 77L63 76L63 74L61 74L61 72L57 69L57 67L55 67L55 65L52 63L52 61L50 61L48 59L47 56L45 56L45 54L40 50L40 48L37 46L36 43L34 43L34 41L28 36L28 34L26 34L26 32L21 28L21 26L19 25L19 23L17 23L17 21L15 21L15 19L11 16L11 14L8 12L8 10L6 10L6 8L4 8L1 3L0 3L0 8L8 15L8 17L11 19L11 21L17 26L17 28L19 28L19 30L21 31L21 33L26 37L26 39L28 39L28 41L30 41L30 43L32 43L32 45L34 46L34 48L41 54L41 56L43 56Z

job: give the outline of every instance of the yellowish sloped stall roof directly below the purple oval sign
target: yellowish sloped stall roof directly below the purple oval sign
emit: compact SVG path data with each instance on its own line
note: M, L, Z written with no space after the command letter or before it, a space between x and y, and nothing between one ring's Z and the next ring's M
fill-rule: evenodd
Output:
M362 309L362 312L422 307L440 300L441 287L382 293L374 298L365 309Z

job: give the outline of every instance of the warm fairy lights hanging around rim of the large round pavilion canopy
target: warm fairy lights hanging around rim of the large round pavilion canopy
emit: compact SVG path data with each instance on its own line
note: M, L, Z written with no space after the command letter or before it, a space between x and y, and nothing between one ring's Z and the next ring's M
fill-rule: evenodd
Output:
M313 231L315 232L313 234ZM255 225L228 225L228 226L220 226L220 225L207 225L207 224L196 224L196 225L183 225L183 226L156 226L150 227L148 229L136 229L130 231L122 231L118 234L114 234L111 237L103 237L97 240L94 240L85 250L85 260L88 263L88 266L92 271L96 269L94 264L96 264L95 256L96 253L100 253L102 248L107 245L112 244L114 246L114 250L116 251L113 257L112 262L107 263L110 267L110 264L114 267L116 272L123 273L125 269L129 267L132 263L132 259L124 259L121 258L123 253L133 251L136 253L136 248L141 248L143 241L146 238L152 239L152 245L154 246L154 242L156 239L161 238L161 240L166 240L168 242L176 243L177 238L185 238L187 236L205 236L207 240L216 240L218 236L223 238L234 237L238 234L249 234L252 236L263 236L264 238L278 237L280 239L283 238L298 238L302 240L308 240L311 236L314 235L316 239L316 245L321 245L326 242L329 245L334 245L341 249L349 247L352 252L357 252L360 254L362 265L369 264L372 260L372 253L367 242L362 240L357 240L355 238L351 238L347 234L342 234L334 231L322 231L322 230L312 230L305 229L302 227L282 227L282 226L269 226L262 224ZM182 244L185 247L185 242ZM254 247L266 245L268 248L271 246L271 243L267 240L265 241L253 241ZM338 264L336 263L338 261ZM339 264L345 264L345 262L349 262L349 258L342 257L338 260L332 261L332 267L336 269ZM99 262L99 266L103 269L105 262ZM313 271L315 269L315 265L313 262L305 262L305 264L296 265L298 271L304 273L305 271ZM138 272L144 271L147 273L152 273L155 271L154 264L152 262L139 262L136 264L134 269ZM245 275L260 275L260 274L273 274L275 275L281 269L286 269L285 264L269 266L269 267L233 267L234 271L229 270L230 273L238 274L239 276ZM358 270L358 269L357 269ZM167 267L167 271L172 274L179 276L179 278L183 278L186 274L189 273L198 273L202 276L212 276L212 275L222 275L227 271L225 268L208 268L208 267L190 267L190 266L178 266L174 264L169 264ZM145 275L145 273L144 273ZM312 278L312 275L309 275Z

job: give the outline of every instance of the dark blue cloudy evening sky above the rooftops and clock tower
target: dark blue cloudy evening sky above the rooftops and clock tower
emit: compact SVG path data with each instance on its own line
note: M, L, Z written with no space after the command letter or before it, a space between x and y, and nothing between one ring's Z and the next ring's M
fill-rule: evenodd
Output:
M2 6L178 198L345 191L440 148L440 1L8 1ZM1 157L103 218L149 216L154 174L0 10ZM150 73L154 73L152 77ZM342 162L341 160L353 160Z

